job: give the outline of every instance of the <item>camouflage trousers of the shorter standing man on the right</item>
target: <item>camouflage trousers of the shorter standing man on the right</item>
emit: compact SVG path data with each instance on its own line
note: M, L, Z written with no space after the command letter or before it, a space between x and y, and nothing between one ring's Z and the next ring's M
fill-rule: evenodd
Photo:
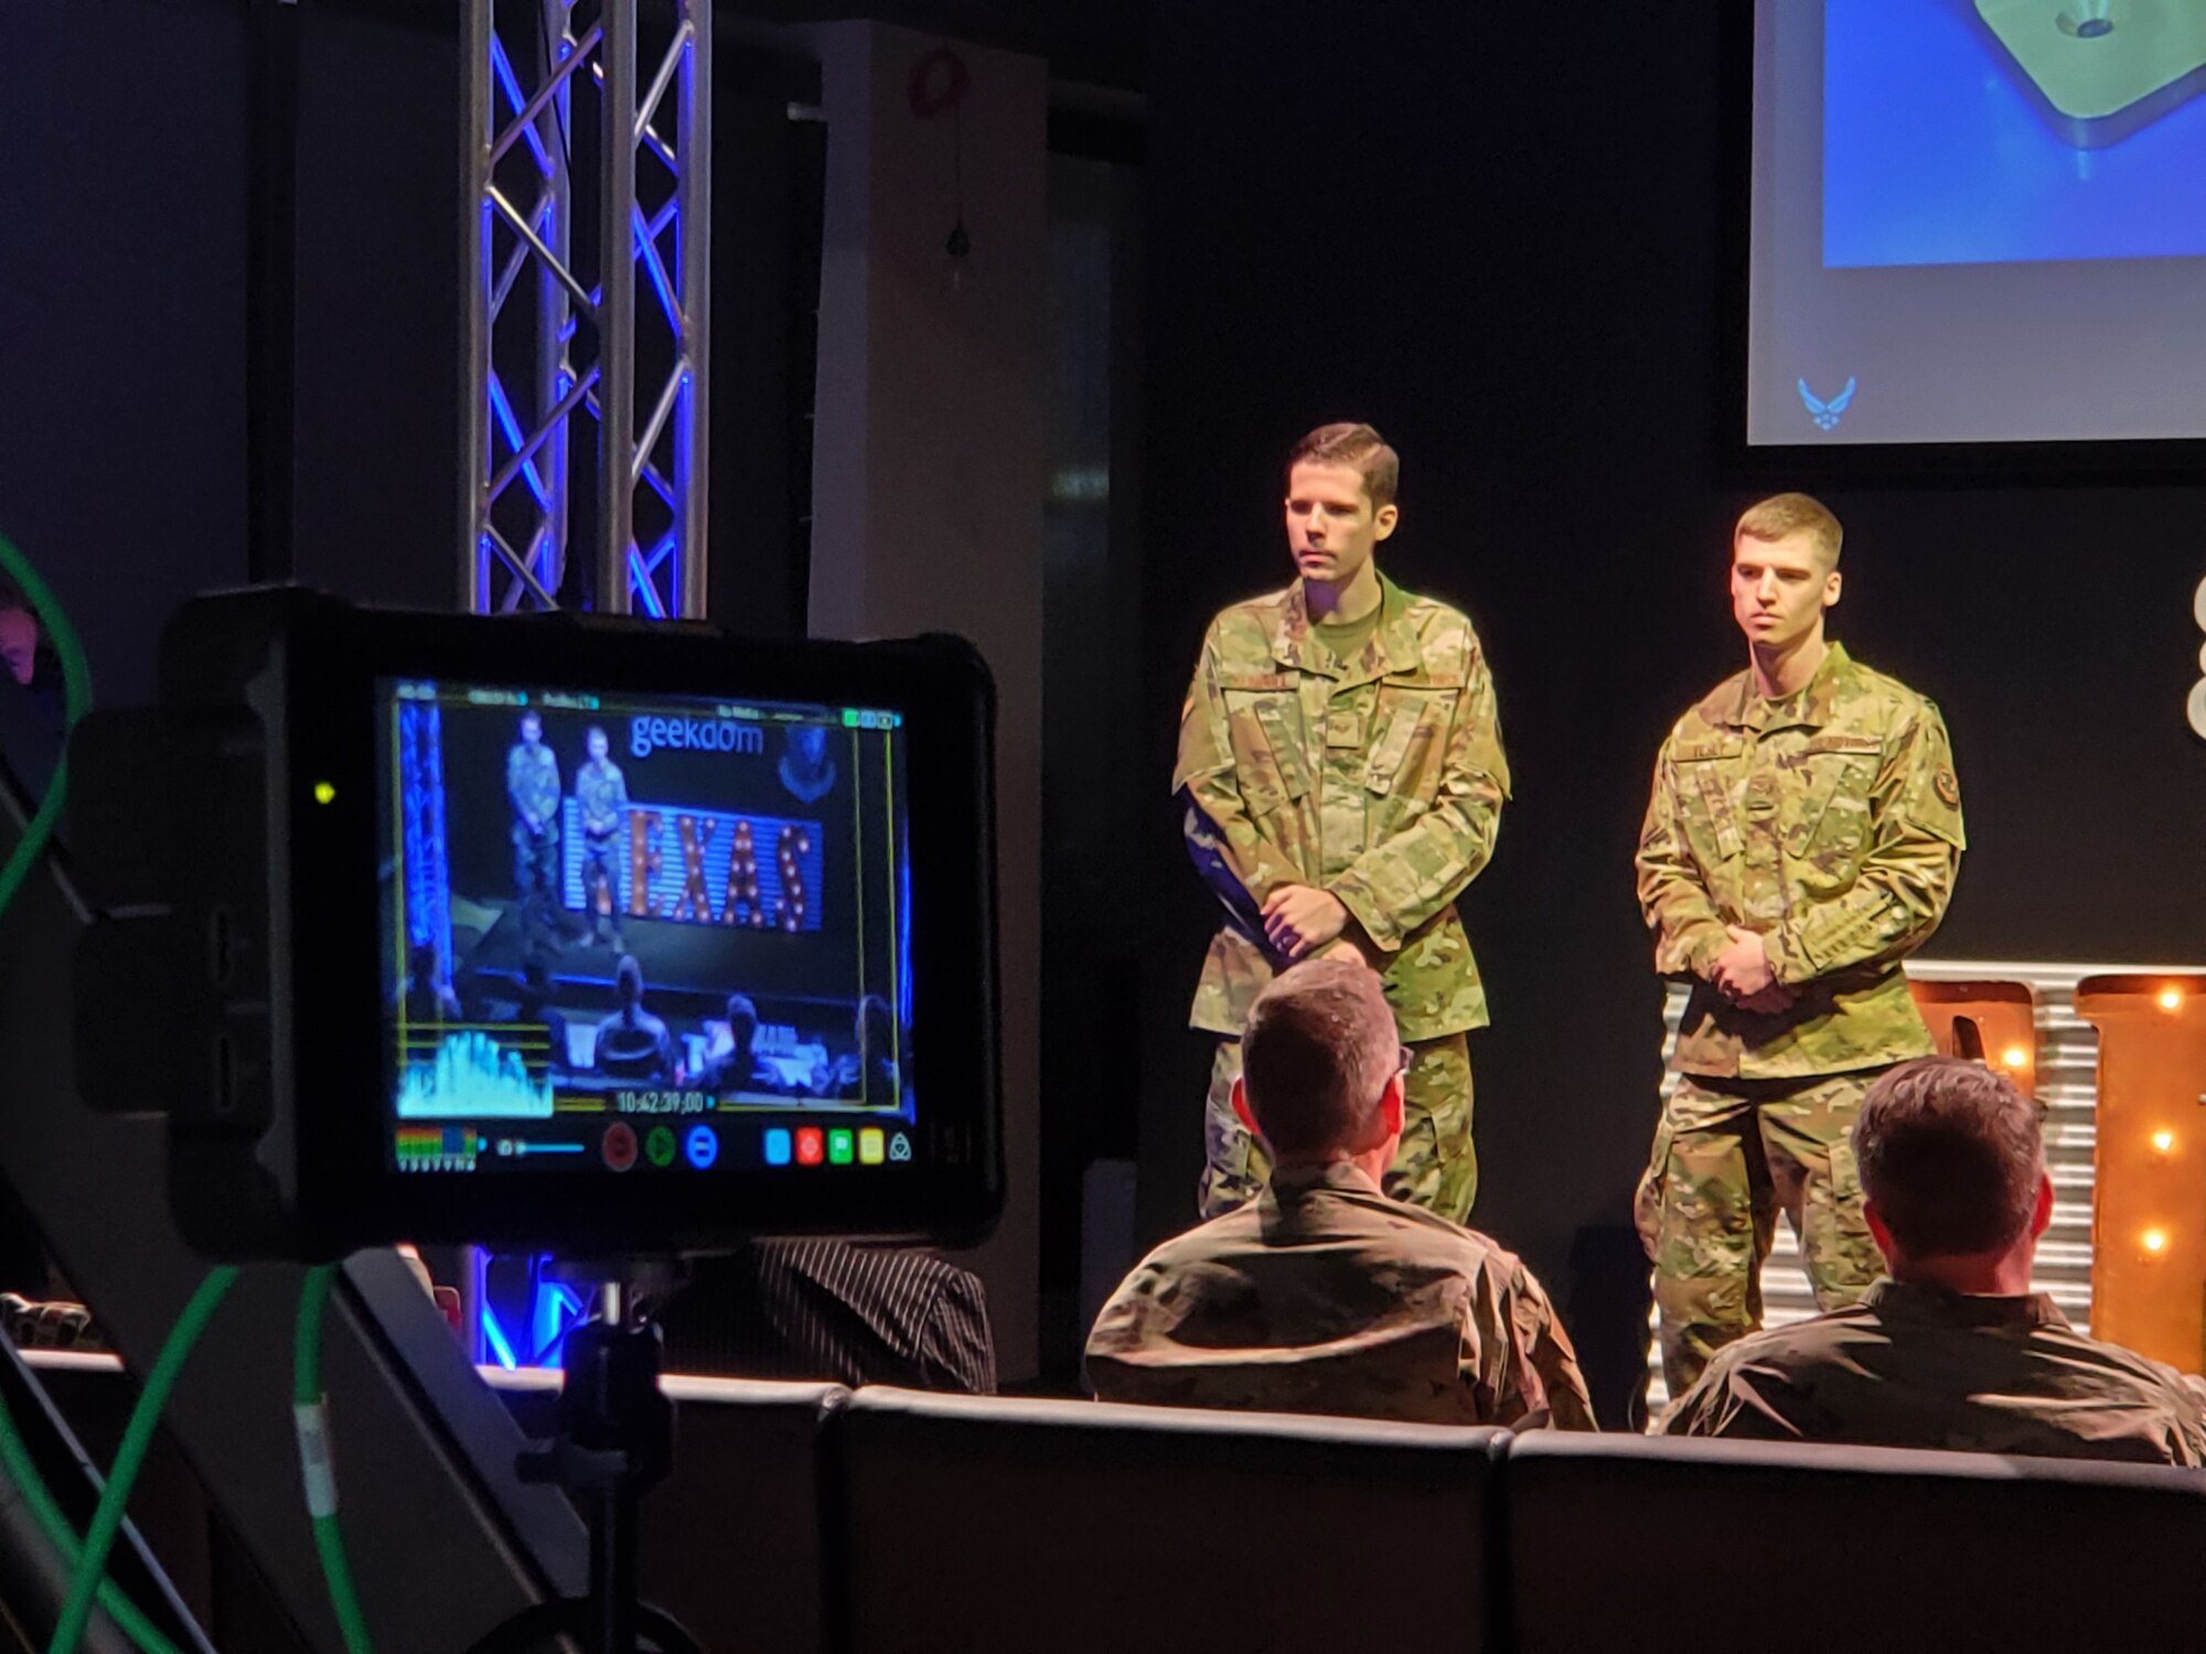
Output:
M1632 1211L1654 1261L1661 1367L1672 1396L1701 1376L1716 1350L1763 1323L1763 1261L1778 1209L1800 1237L1816 1308L1857 1303L1884 1272L1846 1140L1880 1072L1677 1078Z

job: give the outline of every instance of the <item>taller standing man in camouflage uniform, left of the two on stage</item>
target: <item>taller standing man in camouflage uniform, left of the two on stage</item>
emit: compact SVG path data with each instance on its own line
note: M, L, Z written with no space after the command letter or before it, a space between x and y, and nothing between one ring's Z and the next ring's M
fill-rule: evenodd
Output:
M1381 973L1410 1052L1410 1129L1388 1193L1454 1222L1478 1193L1465 1030L1485 1028L1487 999L1456 895L1493 853L1509 765L1471 622L1368 560L1394 525L1392 470L1377 492L1361 470L1372 454L1392 468L1368 426L1328 426L1297 448L1288 540L1304 578L1211 622L1180 715L1174 792L1196 869L1227 909L1189 1017L1220 1037L1207 1217L1253 1200L1268 1171L1229 1103L1249 1006L1284 964L1343 939ZM1363 560L1348 569L1357 523ZM1357 584L1370 609L1341 657L1328 642L1341 629L1313 617L1313 593L1337 615L1337 593ZM1339 928L1302 922L1297 902Z

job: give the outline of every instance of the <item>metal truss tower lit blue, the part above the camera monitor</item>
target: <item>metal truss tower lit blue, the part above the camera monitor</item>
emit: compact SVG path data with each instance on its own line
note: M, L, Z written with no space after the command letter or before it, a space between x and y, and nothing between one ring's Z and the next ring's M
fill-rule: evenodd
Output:
M461 0L479 613L704 613L713 9L653 15L646 46L638 0Z

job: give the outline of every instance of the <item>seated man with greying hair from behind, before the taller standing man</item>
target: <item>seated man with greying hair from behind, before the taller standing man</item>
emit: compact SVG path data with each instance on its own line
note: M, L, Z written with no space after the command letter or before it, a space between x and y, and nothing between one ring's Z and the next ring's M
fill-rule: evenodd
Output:
M1571 1339L1500 1246L1379 1189L1403 1127L1379 977L1315 959L1257 995L1233 1109L1251 1204L1165 1242L1088 1334L1103 1400L1593 1429Z

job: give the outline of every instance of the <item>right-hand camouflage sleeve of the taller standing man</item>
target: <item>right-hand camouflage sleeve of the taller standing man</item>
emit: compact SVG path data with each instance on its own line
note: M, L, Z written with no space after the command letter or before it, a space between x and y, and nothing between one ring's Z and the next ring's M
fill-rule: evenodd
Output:
M1509 798L1509 761L1502 756L1493 675L1476 640L1467 644L1467 657L1432 809L1366 849L1330 884L1381 953L1396 953L1403 937L1454 902L1493 860Z

